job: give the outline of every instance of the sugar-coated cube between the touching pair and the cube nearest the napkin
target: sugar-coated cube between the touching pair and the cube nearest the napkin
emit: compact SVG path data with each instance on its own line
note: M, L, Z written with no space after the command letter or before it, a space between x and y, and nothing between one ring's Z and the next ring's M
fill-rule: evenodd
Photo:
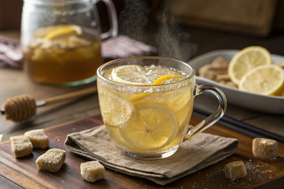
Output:
M63 165L65 158L65 150L52 148L37 158L36 165L40 170L57 172Z

